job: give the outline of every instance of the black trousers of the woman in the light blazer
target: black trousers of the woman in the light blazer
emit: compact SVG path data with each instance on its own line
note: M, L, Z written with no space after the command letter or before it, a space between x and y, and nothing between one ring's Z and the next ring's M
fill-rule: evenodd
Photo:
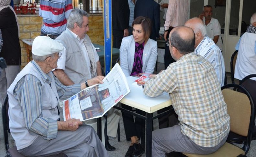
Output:
M122 105L122 108L132 111L132 107L125 104L121 104L121 105ZM146 112L139 109L136 109L136 113L144 116L146 115ZM123 116L123 125L124 125L126 140L130 141L132 136L137 136L140 139L142 134L142 129L143 127L145 128L145 120L136 117L134 121L133 115L130 115L124 112L122 112L122 116Z

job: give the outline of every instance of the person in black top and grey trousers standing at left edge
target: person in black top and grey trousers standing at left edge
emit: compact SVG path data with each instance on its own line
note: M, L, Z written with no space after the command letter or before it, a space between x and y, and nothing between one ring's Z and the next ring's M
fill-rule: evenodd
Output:
M21 65L18 18L9 5L10 2L11 0L0 1L0 29L3 38L0 57L3 57L7 64L0 76L0 104L3 104L6 91L19 73Z

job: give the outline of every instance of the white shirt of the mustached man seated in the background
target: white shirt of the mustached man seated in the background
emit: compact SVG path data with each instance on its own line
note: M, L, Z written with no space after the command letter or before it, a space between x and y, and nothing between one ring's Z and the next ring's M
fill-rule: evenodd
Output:
M205 24L205 18L203 18L203 22ZM222 51L222 41L221 41L221 32L220 32L220 23L217 19L213 18L211 19L210 23L206 26L207 36L213 39L214 36L219 36L218 42L216 45L220 48Z

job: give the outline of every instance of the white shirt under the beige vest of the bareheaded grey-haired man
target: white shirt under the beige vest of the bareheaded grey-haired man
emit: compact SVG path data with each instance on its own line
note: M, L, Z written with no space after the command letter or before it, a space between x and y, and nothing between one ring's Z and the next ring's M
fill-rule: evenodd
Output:
M90 61L90 58L89 58L89 54L88 54L88 52L86 50L85 44L83 43L84 42L84 38L80 39L71 30L69 30L68 28L67 28L67 30L70 31L71 34L74 36L74 38L78 40L79 46L80 46L80 48L82 50L82 54L84 55L84 58L85 58L86 63L87 63L87 66L88 66L89 69L91 69L91 61ZM64 47L64 49L61 51L61 57L58 59L58 62L57 62L58 68L56 68L56 69L65 70L66 53L67 53L67 49ZM98 56L96 50L94 51L94 56L95 56L95 61L98 62L99 61L99 56Z

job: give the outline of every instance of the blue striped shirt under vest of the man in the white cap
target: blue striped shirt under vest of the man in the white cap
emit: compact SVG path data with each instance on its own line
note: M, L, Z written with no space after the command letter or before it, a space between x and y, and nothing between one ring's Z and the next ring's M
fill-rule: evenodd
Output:
M72 86L64 86L54 77L52 72L45 74L36 62L31 61L35 69L40 73L43 80L50 84L54 78L56 89L59 97L64 100L78 93L81 90L80 84ZM34 75L27 74L22 77L16 84L13 95L21 105L22 113L24 114L26 128L30 134L38 134L44 139L50 140L57 136L58 125L57 121L51 118L44 118L42 115L42 84Z

